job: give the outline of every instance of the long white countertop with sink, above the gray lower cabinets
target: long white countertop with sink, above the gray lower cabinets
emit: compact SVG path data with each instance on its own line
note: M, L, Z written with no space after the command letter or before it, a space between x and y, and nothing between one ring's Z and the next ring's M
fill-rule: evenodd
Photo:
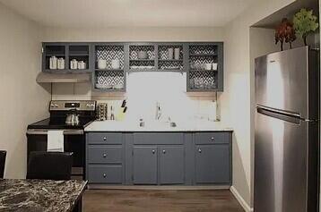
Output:
M95 121L88 125L84 131L233 131L230 127L220 122L190 121L177 123L170 127L169 123L146 122L144 127L139 122Z

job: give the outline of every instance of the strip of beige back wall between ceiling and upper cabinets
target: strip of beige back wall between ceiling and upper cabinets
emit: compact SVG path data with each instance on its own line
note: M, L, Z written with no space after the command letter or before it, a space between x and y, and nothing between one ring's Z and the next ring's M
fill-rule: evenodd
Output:
M46 28L43 41L222 41L222 28Z

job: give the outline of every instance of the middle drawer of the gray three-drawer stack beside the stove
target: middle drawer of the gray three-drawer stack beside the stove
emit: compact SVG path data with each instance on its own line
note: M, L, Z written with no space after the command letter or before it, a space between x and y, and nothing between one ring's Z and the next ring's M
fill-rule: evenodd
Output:
M88 163L90 164L104 164L122 163L122 146L106 147L106 146L90 146L88 147Z

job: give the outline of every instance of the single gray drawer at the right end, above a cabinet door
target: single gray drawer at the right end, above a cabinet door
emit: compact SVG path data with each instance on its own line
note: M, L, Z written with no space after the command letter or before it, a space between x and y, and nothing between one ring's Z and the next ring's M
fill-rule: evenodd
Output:
M197 132L195 133L196 144L215 144L230 142L229 132Z

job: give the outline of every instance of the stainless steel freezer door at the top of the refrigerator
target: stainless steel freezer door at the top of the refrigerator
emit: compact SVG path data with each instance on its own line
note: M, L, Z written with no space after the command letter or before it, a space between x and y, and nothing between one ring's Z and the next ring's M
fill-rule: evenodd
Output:
M317 119L308 106L317 105L316 55L299 47L256 58L256 104Z

